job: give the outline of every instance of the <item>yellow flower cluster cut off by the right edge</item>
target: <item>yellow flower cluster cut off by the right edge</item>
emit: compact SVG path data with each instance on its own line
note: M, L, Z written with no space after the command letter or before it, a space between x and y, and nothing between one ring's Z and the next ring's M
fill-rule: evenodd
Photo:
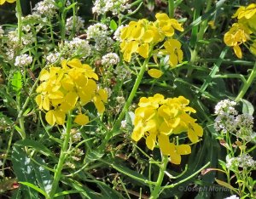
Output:
M256 40L252 40L256 34L256 3L251 3L247 7L241 6L236 10L236 14L232 18L237 18L237 23L234 23L230 31L224 35L224 43L231 46L238 58L241 59L242 53L241 43L247 43L250 51L256 54Z

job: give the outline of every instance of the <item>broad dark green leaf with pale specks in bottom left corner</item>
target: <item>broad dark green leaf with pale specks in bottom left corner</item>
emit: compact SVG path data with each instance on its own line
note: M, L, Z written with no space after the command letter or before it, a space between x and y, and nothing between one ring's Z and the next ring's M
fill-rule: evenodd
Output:
M13 169L18 181L31 183L36 185L36 177L32 160L26 155L26 152L18 145L14 145L11 157L13 163ZM38 192L32 189L30 186L21 185L20 187L23 195L29 199L38 199Z

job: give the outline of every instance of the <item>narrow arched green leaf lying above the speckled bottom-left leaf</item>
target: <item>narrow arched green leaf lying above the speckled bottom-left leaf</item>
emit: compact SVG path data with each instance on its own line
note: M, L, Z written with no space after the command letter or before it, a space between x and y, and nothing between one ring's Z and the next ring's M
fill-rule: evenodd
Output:
M51 151L49 151L49 149L45 145L41 144L38 141L32 140L32 139L19 140L19 141L15 142L15 145L32 147L33 150L36 150L36 151L44 154L44 156L55 156Z

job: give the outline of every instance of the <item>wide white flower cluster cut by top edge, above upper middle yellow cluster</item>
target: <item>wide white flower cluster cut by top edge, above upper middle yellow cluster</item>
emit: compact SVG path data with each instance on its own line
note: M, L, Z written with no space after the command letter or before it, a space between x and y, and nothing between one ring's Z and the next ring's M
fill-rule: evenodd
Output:
M108 11L113 15L124 12L126 9L130 9L131 5L128 3L129 0L96 0L92 13L106 14Z

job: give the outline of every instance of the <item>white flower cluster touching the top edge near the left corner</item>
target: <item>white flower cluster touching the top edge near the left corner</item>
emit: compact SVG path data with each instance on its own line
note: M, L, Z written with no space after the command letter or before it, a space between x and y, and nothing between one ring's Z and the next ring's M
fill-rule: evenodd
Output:
M44 0L35 5L32 9L32 14L44 15L51 18L57 13L57 9L54 0Z

